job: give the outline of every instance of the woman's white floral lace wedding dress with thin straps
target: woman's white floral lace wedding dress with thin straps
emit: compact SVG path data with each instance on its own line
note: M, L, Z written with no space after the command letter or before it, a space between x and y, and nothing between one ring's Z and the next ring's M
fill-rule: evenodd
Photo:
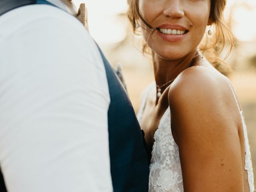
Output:
M228 79L227 79L228 80ZM234 94L230 81L228 80L230 88ZM144 108L146 105L146 98L148 92L155 86L155 83L150 84L144 91L142 104L138 112L138 120L140 122ZM234 94L236 99L236 96ZM236 100L238 105L238 102ZM239 105L238 105L239 108ZM242 111L240 110L242 124L244 128L245 138L245 170L248 172L248 183L250 192L254 192L254 177L252 171L252 161L250 154L250 146L248 142L246 125ZM152 150L152 158L150 161L150 174L149 174L149 192L184 192L182 182L182 171L180 166L180 156L178 145L175 143L171 131L170 123L170 108L165 111L162 116L158 129L154 134L154 145Z

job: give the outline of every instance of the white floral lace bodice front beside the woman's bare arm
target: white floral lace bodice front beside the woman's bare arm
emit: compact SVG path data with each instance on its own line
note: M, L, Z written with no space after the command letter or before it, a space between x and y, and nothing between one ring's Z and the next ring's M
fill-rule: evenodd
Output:
M149 192L183 192L178 146L171 132L168 108L154 134L150 162Z

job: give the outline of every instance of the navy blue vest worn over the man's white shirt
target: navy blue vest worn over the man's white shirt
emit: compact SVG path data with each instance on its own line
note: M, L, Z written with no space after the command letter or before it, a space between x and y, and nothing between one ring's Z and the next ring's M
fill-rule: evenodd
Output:
M52 5L45 0L0 0L0 16L30 4ZM106 69L110 94L108 133L114 192L148 192L149 162L144 134L122 83L100 48L99 51ZM3 181L0 178L0 191L5 191Z

